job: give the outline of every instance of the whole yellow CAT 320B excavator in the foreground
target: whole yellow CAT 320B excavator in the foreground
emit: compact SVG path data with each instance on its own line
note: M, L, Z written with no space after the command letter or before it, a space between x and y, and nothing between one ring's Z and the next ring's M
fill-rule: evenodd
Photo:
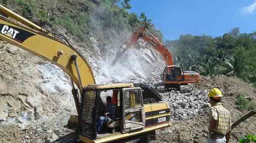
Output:
M41 57L66 72L73 86L78 136L72 141L106 143L138 141L156 142L155 130L170 126L170 107L149 85L112 83L99 85L84 55L68 40L51 30L43 29L0 5L0 39ZM74 84L78 89L75 89ZM105 133L96 132L97 121L105 112L105 97L111 96L116 108L115 119L103 126Z

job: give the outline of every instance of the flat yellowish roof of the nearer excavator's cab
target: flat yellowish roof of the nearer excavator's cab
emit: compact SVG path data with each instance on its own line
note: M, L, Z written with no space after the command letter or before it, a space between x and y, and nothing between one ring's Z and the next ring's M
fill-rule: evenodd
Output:
M96 85L88 85L87 88L93 89L105 89L105 88L120 88L120 87L134 87L133 83L110 83L110 84L96 84Z

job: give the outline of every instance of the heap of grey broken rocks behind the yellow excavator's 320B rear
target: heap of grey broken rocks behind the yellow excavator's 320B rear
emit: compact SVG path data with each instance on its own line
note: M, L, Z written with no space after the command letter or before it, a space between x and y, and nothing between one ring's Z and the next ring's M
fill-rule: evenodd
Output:
M198 113L204 113L210 104L207 103L208 90L193 90L181 94L179 91L160 93L163 101L171 108L172 120L185 120Z

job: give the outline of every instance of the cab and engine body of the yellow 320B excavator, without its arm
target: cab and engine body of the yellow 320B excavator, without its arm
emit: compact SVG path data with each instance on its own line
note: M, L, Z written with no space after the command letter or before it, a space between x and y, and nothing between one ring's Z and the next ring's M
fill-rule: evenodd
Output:
M99 118L105 113L107 96L112 96L112 104L115 104L115 118L105 122L104 133L97 133ZM147 138L143 142L155 143L155 130L170 126L169 105L149 85L88 85L82 91L80 105L80 118L76 122L79 123L79 140L85 143L141 140L143 137Z

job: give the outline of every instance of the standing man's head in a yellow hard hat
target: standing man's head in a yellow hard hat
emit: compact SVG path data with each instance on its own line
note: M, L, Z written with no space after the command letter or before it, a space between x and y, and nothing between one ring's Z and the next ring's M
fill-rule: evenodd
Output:
M222 96L223 95L218 88L212 88L208 93L208 97L210 98L210 104L213 106L216 103L220 102Z

